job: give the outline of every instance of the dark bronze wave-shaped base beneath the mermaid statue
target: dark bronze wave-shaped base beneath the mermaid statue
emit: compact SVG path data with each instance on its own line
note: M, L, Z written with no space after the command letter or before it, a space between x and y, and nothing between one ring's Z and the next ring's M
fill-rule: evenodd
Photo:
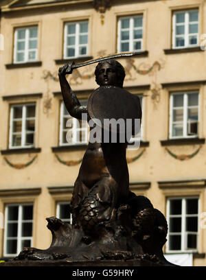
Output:
M83 211L82 225L47 218L50 247L25 247L2 266L174 266L162 251L168 230L165 217L144 196L131 196L128 204L114 209L111 219L96 224L93 200Z

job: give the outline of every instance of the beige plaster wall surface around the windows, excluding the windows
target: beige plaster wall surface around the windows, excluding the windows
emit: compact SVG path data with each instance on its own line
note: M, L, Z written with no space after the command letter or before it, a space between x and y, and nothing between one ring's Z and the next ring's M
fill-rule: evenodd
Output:
M115 5L121 2L122 5ZM200 195L201 212L206 211L206 191L205 187L197 189L173 188L169 191L160 189L159 181L181 181L181 180L202 180L205 179L205 153L206 145L203 145L200 152L188 161L179 161L172 158L160 141L168 139L169 124L169 97L170 91L198 89L200 93L200 128L199 138L206 135L206 86L201 82L196 84L186 84L181 86L174 84L163 86L159 91L160 101L155 103L152 100L150 90L141 90L138 86L156 84L196 82L205 80L206 56L204 51L185 54L168 54L164 49L171 48L171 21L172 10L198 8L200 14L200 34L206 33L205 1L196 0L173 0L173 1L114 1L110 10L104 14L104 25L101 24L100 12L96 12L91 3L84 4L84 10L78 5L59 5L55 8L42 10L16 10L14 12L3 12L1 18L1 32L5 36L5 51L0 51L1 71L0 71L0 95L25 95L31 97L12 99L0 99L0 149L8 149L8 128L9 128L9 107L10 104L34 101L36 102L36 148L41 148L37 159L22 170L16 170L0 155L0 189L21 189L21 188L41 188L41 194L34 197L26 195L1 196L0 207L3 211L5 204L12 200L24 202L34 201L34 246L37 248L47 248L51 242L51 235L46 228L46 217L56 215L55 201L69 199L71 194L62 194L57 198L49 194L48 187L71 186L76 180L80 165L61 165L52 147L58 146L60 95L53 93L60 91L58 81L52 79L45 80L45 71L50 71L56 77L58 67L56 59L62 58L63 25L67 21L78 21L89 19L89 56L97 58L101 52L114 54L117 51L117 19L118 16L131 14L144 14L144 50L148 51L148 57L133 57L134 65L138 69L148 69L155 62L158 62L160 69L146 75L140 75L134 69L130 69L130 75L126 75L124 86L129 88L135 86L133 93L144 94L144 141L149 141L144 154L133 163L128 163L131 183L150 182L148 189L143 191L135 190L137 194L146 195L160 211L165 214L165 202L168 196L189 196ZM40 12L41 11L41 12ZM38 60L42 61L41 67L25 67L6 69L4 65L12 63L13 56L13 34L14 27L25 25L38 25ZM128 67L125 59L119 62ZM82 67L79 69L82 75L93 73L95 66ZM73 90L93 91L97 86L94 78L77 80L80 84L74 84ZM75 83L76 80L71 80ZM33 93L43 93L42 97L34 97ZM44 100L46 97L52 98L52 108L44 113ZM78 95L80 96L80 95ZM84 96L84 95L83 95ZM85 95L88 96L88 95ZM169 147L174 154L192 154L197 148L196 145L179 145ZM133 158L141 152L130 150L127 152L128 158ZM82 159L85 148L81 150L67 150L67 152L57 152L63 160ZM26 163L34 154L8 154L6 157L12 163ZM6 199L5 199L6 198ZM200 244L198 253L206 251L206 229L200 231ZM3 250L3 230L0 229L0 255ZM194 264L205 266L206 259L196 259Z

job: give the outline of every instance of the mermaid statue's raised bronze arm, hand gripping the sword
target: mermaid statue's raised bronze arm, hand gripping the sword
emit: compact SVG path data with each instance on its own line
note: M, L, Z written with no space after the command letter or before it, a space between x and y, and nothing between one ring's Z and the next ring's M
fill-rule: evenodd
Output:
M66 79L67 74L71 74L73 69L72 66L74 62L69 62L67 65L64 65L58 69L58 77L60 81L60 87L62 91L62 97L65 102L65 106L71 115L76 119L82 119L82 113L87 113L87 106L81 106L76 94L72 91L71 86Z

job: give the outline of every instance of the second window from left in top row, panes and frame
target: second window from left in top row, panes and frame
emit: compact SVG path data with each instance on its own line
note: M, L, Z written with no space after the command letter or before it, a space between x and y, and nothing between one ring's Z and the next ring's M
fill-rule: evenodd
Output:
M65 24L64 58L88 55L88 21Z

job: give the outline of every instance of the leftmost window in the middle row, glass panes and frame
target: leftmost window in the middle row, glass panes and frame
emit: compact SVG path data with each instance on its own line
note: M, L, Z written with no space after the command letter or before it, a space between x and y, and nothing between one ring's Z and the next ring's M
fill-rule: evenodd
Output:
M35 104L12 105L10 110L10 148L34 146Z

